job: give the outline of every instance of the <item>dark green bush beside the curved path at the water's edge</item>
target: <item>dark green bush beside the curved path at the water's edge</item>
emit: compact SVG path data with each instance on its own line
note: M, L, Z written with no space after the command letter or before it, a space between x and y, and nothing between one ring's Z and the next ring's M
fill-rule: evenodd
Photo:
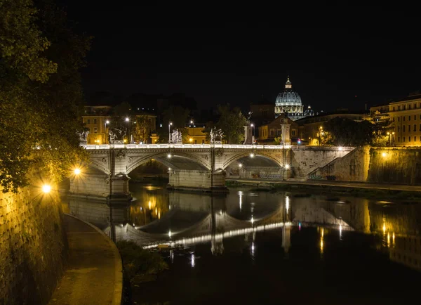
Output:
M124 271L132 284L155 280L159 273L168 269L160 254L149 252L135 242L121 240L116 245L123 259Z

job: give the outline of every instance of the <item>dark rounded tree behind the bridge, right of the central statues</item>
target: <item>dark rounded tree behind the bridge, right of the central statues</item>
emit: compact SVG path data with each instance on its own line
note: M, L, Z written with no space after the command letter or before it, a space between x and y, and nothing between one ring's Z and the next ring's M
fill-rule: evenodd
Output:
M229 105L218 105L220 119L216 123L218 129L222 129L224 140L229 144L241 144L244 141L244 126L247 124L246 117L239 108L230 109Z

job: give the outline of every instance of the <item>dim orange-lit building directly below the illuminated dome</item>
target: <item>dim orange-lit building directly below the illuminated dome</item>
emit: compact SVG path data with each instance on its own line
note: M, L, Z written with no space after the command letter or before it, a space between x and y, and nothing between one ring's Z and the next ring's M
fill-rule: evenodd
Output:
M258 134L258 143L273 143L274 138L280 137L282 135L281 119L285 117L285 114L279 115L269 124L260 126ZM298 124L289 117L286 118L288 119L288 124L290 124L290 139L293 143L296 143L298 141L298 138L300 138L298 136Z

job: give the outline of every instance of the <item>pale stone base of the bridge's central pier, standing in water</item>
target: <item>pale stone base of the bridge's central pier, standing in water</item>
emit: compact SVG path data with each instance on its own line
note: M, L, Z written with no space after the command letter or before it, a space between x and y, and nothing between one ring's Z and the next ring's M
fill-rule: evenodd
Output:
M203 192L227 192L225 173L203 169L171 169L168 171L168 188L175 190L201 190Z

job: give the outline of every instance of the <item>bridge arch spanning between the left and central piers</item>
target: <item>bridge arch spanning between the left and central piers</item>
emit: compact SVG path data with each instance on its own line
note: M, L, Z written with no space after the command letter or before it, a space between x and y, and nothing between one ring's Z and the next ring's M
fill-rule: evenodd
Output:
M171 157L168 157L168 152L157 152L136 158L134 162L126 166L126 174L129 174L131 171L140 167L142 164L149 162L150 160L156 160L166 167L171 167L171 169L210 169L206 162L203 162L199 159L199 157L194 155L190 155L184 152L172 152Z

